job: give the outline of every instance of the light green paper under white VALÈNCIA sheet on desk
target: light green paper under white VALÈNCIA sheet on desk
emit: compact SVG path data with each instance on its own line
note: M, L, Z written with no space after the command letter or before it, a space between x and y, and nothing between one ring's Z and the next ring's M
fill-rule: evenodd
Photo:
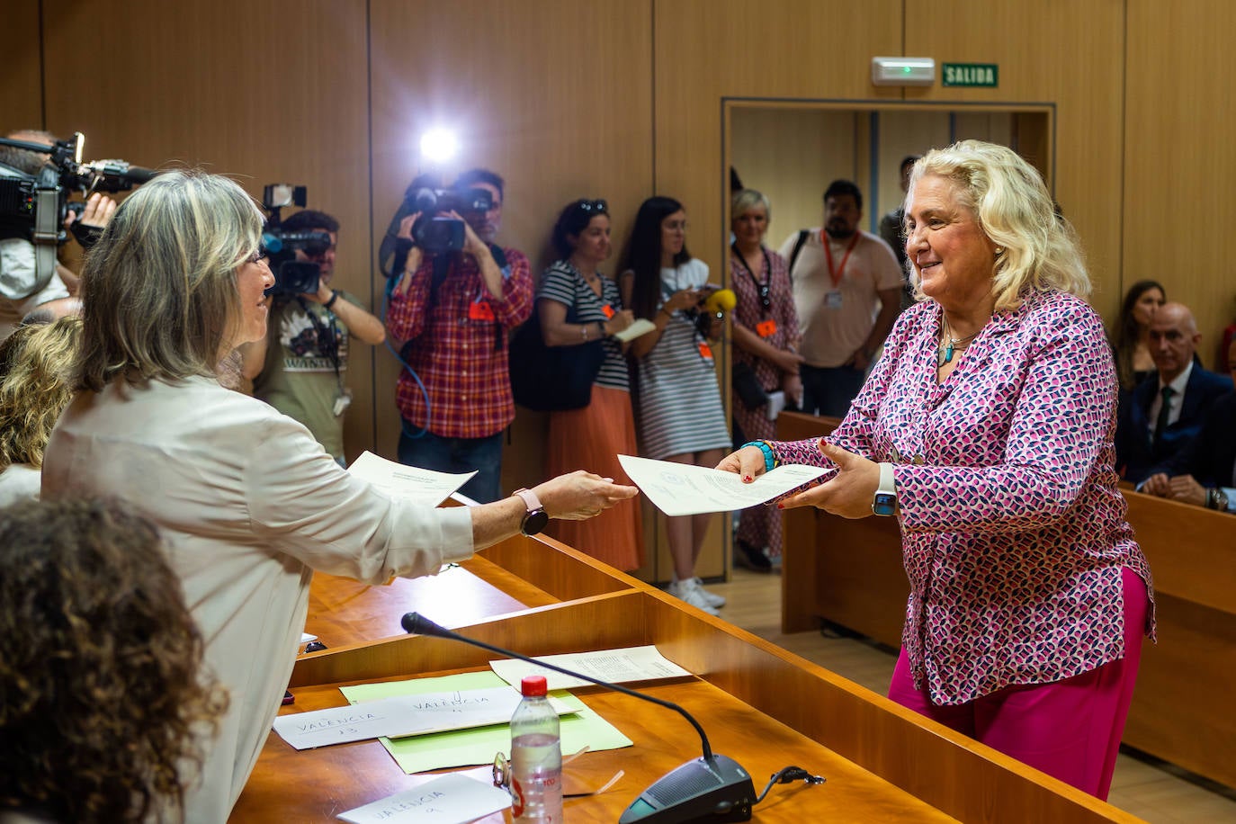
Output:
M415 696L456 689L485 689L504 687L506 683L492 672L464 672L441 678L415 678L413 681L388 681L376 684L341 687L340 692L351 702L376 700L393 696ZM587 746L591 750L617 750L630 746L630 739L619 733L609 721L588 709L582 700L564 692L554 696L575 714L561 720L562 752L576 752ZM509 720L509 719L508 719ZM444 767L471 767L493 763L498 752L510 752L510 726L478 726L451 733L429 733L402 739L381 739L382 746L394 756L404 772L424 772Z

